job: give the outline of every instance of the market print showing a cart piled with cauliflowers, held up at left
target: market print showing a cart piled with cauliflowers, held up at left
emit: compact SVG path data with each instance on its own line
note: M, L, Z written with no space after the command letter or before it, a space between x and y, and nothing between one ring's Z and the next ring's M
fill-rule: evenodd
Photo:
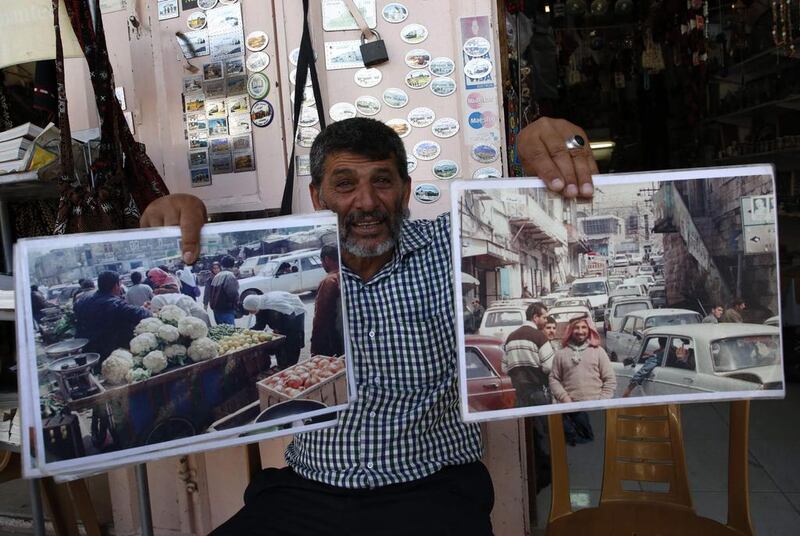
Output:
M17 252L20 392L40 408L27 416L40 470L330 426L347 406L333 216L207 225L193 265L177 228L30 239Z

